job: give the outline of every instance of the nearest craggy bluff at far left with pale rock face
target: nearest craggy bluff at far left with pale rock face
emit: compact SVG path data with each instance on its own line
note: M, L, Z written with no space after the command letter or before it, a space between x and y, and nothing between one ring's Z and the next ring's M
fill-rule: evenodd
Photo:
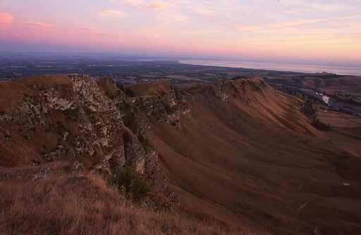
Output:
M7 92L21 96L17 102L1 97L1 127L8 133L1 151L11 157L4 165L87 157L96 166L110 159L125 163L121 112L94 80L86 75L33 80L13 82L16 89ZM19 151L16 146L27 151L12 152Z

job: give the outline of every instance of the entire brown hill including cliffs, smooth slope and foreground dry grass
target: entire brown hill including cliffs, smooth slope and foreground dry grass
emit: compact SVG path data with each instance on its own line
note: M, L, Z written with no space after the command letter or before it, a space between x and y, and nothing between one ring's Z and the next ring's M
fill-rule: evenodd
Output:
M0 233L361 234L357 132L302 106L257 78L0 83Z

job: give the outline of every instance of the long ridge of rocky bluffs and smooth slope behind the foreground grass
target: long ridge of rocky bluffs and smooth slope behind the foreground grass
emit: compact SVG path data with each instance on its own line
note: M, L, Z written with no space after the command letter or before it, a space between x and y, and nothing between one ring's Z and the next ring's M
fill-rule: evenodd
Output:
M275 234L360 231L360 211L344 206L360 205L359 160L301 107L260 79L182 89L87 75L2 82L0 179L47 177L62 163L104 174L132 166L166 208Z

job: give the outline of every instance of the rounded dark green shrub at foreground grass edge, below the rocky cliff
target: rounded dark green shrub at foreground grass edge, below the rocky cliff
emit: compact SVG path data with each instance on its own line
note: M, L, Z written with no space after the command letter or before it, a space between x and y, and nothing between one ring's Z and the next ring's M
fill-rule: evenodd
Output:
M119 167L109 183L116 190L123 191L126 196L137 200L147 196L150 191L144 177L137 174L133 167Z

